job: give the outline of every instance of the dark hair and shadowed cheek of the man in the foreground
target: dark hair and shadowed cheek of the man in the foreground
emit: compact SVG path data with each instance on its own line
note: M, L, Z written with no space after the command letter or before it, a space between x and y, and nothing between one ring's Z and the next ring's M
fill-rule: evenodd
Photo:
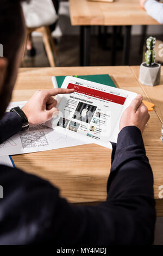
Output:
M11 83L17 51L23 44L24 21L21 0L1 0L0 3L0 44L3 45L4 57L8 59L7 75L0 95L0 118L4 114L12 94ZM27 1L26 1L27 2Z

